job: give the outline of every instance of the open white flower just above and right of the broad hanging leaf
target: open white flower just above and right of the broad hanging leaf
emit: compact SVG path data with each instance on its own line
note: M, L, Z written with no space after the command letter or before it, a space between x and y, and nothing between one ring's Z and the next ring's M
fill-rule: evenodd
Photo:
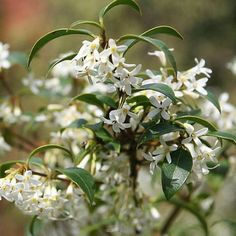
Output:
M195 131L194 127L187 123L184 124L184 127L186 132L188 133L188 137L182 140L182 144L194 142L196 145L202 145L202 142L199 138L207 134L208 128L203 128L198 131Z

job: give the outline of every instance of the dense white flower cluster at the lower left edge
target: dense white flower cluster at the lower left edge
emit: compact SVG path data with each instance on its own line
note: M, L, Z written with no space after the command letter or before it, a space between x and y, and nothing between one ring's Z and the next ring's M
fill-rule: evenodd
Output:
M18 169L11 169L6 177L0 179L2 198L14 202L25 214L57 220L72 217L70 210L80 197L72 184L61 191L55 182L35 175L31 170L21 173Z

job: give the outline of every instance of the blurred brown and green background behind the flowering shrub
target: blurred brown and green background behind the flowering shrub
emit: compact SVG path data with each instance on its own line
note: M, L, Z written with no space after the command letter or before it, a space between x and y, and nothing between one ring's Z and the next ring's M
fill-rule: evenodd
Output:
M68 27L79 19L97 20L99 9L108 2L110 1L0 0L0 41L9 43L11 51L29 53L34 42L48 31ZM209 81L210 86L216 87L216 92L228 91L231 94L231 102L235 104L236 77L227 69L226 64L236 56L236 1L139 0L137 2L143 10L142 17L122 6L106 16L108 35L118 38L126 33L139 34L157 25L173 26L184 36L184 41L171 36L160 36L160 38L169 48L175 49L178 70L194 66L194 58L204 58L207 67L213 70ZM51 42L34 61L33 71L38 76L44 76L50 60L57 58L60 53L78 51L83 39L81 36L68 36ZM155 68L156 60L146 56L149 50L153 49L145 44L135 46L129 52L129 62L141 62L144 68L147 65ZM20 78L27 74L26 70L18 67L10 73L9 83L13 88L17 88ZM0 90L0 93L2 92ZM230 184L230 188L235 189L235 177L227 183ZM227 186L223 186L219 196L224 193L225 187ZM218 213L217 208L216 213L226 214L228 209L227 214L236 217L235 199L224 196L223 201L228 201L228 205L222 206L222 198L220 198ZM21 236L24 235L24 227L28 219L13 205L1 201L0 222L1 236Z

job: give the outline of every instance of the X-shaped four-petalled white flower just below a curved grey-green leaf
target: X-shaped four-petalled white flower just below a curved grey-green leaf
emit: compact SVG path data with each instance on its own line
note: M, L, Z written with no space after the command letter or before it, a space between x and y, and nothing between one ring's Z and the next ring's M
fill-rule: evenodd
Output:
M169 98L166 98L164 101L159 102L154 96L151 96L149 100L151 104L154 106L154 109L148 113L149 118L153 118L160 113L163 119L165 120L170 119L168 108L171 104L171 100Z

